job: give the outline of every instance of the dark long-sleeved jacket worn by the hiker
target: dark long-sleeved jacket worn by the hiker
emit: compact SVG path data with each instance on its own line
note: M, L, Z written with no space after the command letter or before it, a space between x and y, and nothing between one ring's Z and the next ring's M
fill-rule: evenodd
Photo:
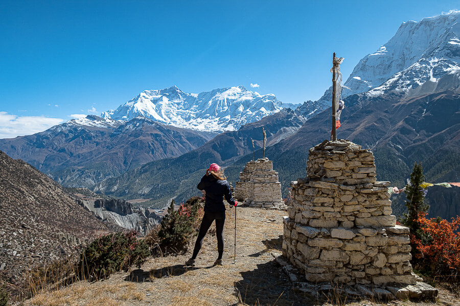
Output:
M232 197L232 191L227 180L217 180L212 174L208 176L203 175L201 182L198 184L199 190L206 191L204 200L204 211L205 212L223 212L225 211L225 205L223 198L228 203L235 205L235 200Z

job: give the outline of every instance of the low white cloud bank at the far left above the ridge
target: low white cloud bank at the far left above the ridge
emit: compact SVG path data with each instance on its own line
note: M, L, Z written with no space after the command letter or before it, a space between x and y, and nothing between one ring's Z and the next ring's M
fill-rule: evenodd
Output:
M16 116L2 111L0 112L0 139L43 132L63 121L60 118L44 116Z

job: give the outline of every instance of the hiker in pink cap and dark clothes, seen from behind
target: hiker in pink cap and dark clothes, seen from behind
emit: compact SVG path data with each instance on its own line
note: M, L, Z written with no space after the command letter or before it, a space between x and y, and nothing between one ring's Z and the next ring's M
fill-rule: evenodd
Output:
M222 265L223 254L223 226L225 222L225 205L223 199L227 200L229 205L237 206L238 202L232 197L232 191L228 184L223 170L217 164L211 164L209 169L206 169L206 174L201 178L197 188L204 190L204 216L201 221L200 231L196 238L195 248L193 249L192 257L186 262L186 266L194 266L195 259L200 251L203 239L208 232L211 224L216 220L216 236L217 236L217 251L219 256L214 265Z

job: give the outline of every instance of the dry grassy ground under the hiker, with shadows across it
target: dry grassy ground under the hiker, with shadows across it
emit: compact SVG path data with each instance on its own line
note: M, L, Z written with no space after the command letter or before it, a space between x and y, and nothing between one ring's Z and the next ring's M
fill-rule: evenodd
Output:
M198 254L196 267L184 267L185 255L149 260L140 269L116 273L102 282L77 282L67 288L39 294L26 305L400 305L426 306L432 301L378 302L375 298L352 300L352 295L328 295L325 285L318 298L296 288L275 260L281 254L284 211L237 208L236 262L234 263L235 210L226 211L223 266L214 266L217 241L209 233ZM302 278L298 275L298 281ZM436 303L458 305L454 293L439 288Z

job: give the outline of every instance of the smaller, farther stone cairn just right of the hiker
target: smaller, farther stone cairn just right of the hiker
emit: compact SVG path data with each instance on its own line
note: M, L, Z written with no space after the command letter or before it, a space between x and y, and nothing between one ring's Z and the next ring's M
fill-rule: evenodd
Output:
M235 184L234 196L250 207L282 207L281 183L273 162L268 158L248 162L240 172L240 182Z

